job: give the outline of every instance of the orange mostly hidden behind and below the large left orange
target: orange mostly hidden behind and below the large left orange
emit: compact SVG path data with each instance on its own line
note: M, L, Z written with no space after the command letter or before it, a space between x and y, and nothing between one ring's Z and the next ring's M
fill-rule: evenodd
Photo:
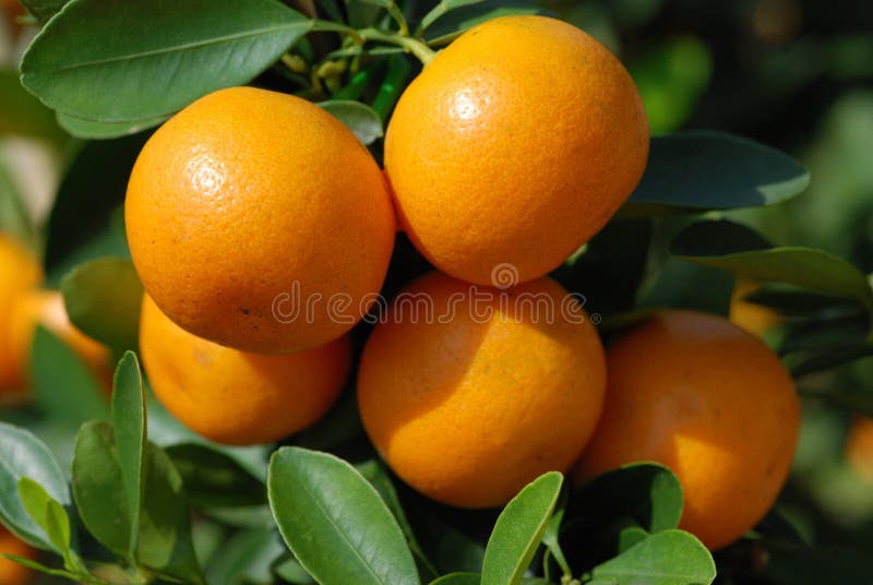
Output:
M343 389L348 336L280 356L247 354L188 333L146 295L143 368L158 399L191 430L219 443L268 443L321 418Z

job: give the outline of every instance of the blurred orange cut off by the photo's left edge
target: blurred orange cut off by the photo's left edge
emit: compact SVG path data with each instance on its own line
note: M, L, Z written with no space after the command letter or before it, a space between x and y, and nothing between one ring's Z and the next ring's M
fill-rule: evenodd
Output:
M8 345L10 321L17 298L41 282L43 268L29 250L0 234L0 395L23 389L22 363Z

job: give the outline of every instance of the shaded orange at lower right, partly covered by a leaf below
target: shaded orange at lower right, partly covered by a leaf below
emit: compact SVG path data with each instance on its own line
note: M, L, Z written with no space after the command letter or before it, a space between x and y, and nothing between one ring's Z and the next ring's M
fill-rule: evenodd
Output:
M603 416L575 469L670 467L685 494L680 527L710 549L740 538L776 501L800 428L779 358L727 320L662 311L607 349Z

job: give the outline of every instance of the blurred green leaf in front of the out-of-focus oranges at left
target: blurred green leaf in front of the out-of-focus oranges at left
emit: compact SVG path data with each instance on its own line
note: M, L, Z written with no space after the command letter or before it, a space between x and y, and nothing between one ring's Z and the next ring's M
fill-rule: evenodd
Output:
M56 419L77 427L108 418L105 394L94 374L43 326L34 335L31 372L37 404Z

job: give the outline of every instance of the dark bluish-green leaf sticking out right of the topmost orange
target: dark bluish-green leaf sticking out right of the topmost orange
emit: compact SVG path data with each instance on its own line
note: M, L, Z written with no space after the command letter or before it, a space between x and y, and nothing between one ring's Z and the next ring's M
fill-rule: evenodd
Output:
M651 140L643 180L622 213L773 205L809 183L810 174L800 163L769 146L723 132L680 132Z

